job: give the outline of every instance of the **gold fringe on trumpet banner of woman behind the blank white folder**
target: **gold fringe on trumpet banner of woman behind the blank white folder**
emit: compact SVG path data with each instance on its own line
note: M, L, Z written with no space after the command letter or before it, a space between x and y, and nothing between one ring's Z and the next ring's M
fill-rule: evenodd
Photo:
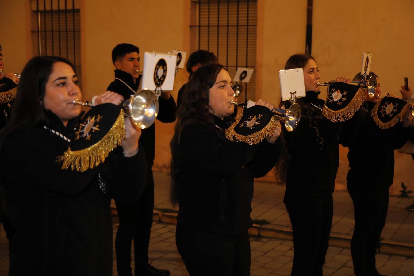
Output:
M351 100L348 105L341 109L341 110L332 110L326 106L326 103L329 99L329 87L326 91L326 101L325 105L323 106L322 114L325 118L330 120L331 122L345 122L352 117L354 117L355 111L361 108L363 102L365 101L365 91L360 88L356 91L354 98Z

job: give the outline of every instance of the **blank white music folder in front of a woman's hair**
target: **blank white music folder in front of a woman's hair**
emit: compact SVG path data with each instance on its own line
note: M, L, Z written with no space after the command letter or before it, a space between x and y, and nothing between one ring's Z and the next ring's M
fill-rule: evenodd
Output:
M290 99L290 92L296 91L296 98L306 96L305 80L303 79L303 68L280 70L279 80L282 101Z

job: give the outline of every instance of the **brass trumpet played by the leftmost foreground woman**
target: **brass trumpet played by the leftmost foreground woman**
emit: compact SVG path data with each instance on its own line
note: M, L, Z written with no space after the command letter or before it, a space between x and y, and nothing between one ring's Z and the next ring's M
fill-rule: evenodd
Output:
M73 104L93 107L95 106L95 97L92 98L92 101L86 102L76 99ZM154 123L159 110L158 99L154 92L148 89L138 91L135 95L120 103L120 106L124 110L125 118L130 118L132 124L142 130Z

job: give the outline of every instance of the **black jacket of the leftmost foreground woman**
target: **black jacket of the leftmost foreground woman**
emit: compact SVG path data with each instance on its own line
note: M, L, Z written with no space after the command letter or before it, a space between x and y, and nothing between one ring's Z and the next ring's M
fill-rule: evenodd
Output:
M60 119L46 113L47 127L70 137ZM18 127L3 140L2 190L16 228L10 275L112 275L111 197L137 200L147 181L144 151L127 158L119 147L81 173L56 162L67 149L68 142L43 124Z

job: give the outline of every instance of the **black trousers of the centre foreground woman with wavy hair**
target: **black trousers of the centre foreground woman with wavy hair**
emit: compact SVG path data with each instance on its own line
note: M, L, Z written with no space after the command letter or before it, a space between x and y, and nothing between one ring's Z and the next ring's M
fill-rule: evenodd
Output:
M190 276L250 275L250 240L177 225L176 244Z

